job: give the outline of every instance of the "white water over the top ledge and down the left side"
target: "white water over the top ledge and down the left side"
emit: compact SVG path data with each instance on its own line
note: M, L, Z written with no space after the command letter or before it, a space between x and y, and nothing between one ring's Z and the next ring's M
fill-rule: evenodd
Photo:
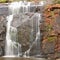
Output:
M7 16L8 22L7 22L7 33L6 33L6 49L5 49L4 57L15 57L21 55L21 45L15 42L15 40L14 41L11 40L11 31L14 31L15 33L17 32L16 29L11 26L11 23L13 20L13 16L15 14L19 14L20 7L23 7L23 13L28 12L28 7L27 7L28 4L25 5L26 3L27 2L23 2L23 1L13 2L8 6L9 14L11 15ZM24 11L24 7L26 11ZM18 47L16 46L16 44L18 45ZM14 50L14 48L16 51ZM14 51L17 52L17 55L14 54Z

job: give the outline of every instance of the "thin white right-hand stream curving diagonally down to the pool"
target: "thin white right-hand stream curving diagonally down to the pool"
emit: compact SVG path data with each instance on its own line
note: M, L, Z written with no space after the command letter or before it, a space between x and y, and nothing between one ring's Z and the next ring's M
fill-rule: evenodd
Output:
M36 38L35 38L35 40L34 40L34 42L30 45L30 47L29 47L29 49L24 53L24 55L23 55L23 57L26 57L26 55L27 55L27 57L29 58L30 56L30 50L32 49L32 47L34 46L34 44L36 44L37 43L37 40L39 40L40 39L40 28L39 28L39 25L40 25L40 20L41 20L41 14L39 14L39 13L35 13L33 16L32 16L32 18L34 17L34 16L37 16L38 17L38 19L37 19L37 26L36 26L36 28L38 27L38 29L36 29ZM32 19L31 18L31 19ZM33 24L32 24L33 25ZM38 30L38 31L37 31ZM33 32L32 32L33 33Z

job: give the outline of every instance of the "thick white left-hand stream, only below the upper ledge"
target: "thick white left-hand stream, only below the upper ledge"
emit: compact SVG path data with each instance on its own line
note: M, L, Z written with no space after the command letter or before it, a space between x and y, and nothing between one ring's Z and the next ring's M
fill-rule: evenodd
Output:
M7 33L6 33L6 55L5 57L18 57L21 53L21 45L16 42L16 38L12 37L14 40L11 40L11 33L14 31L14 33L17 32L16 28L11 26L11 22L13 20L13 15L9 15L7 17ZM14 34L13 33L13 34ZM14 34L16 37L16 35ZM18 45L18 46L16 46ZM14 51L17 53L14 53Z

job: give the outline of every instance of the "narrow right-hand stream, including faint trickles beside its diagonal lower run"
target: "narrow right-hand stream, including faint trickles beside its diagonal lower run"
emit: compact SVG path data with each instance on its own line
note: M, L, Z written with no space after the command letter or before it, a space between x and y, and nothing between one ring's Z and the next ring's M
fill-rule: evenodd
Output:
M30 56L30 50L32 49L32 47L33 47L34 44L36 44L36 43L37 43L37 45L39 45L39 46L37 46L37 48L40 49L40 28L39 28L40 23L39 23L39 22L40 22L40 20L41 20L41 14L35 13L35 14L32 16L31 19L33 19L33 18L35 18L35 17L37 17L36 26L35 26L35 27L36 27L36 38L35 38L35 40L30 44L29 49L28 49L27 51L25 51L23 57L26 57L26 55L27 55L27 57ZM32 20L32 22L33 22L33 20ZM33 26L33 24L32 24L32 26ZM32 33L33 33L33 28L32 28ZM32 38L32 37L31 37L31 38ZM40 50L39 50L39 51L40 51ZM39 56L40 56L40 52L39 52Z

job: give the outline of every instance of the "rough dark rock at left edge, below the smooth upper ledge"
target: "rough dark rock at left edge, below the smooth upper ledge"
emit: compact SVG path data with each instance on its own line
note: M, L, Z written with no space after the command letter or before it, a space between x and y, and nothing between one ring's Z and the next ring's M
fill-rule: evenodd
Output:
M6 37L6 26L5 23L5 17L0 16L0 56L4 55L4 49L5 49L5 37Z

